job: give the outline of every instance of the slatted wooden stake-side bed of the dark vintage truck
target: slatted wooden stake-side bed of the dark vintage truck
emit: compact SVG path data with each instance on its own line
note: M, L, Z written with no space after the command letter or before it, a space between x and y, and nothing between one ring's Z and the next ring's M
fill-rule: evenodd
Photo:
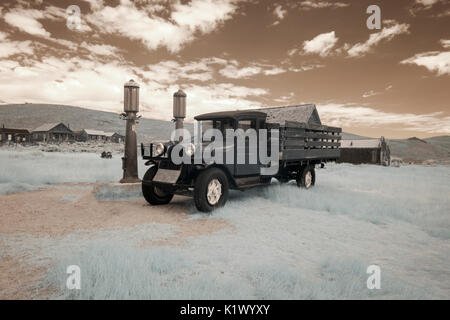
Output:
M336 160L340 156L341 128L285 121L280 131L280 160Z

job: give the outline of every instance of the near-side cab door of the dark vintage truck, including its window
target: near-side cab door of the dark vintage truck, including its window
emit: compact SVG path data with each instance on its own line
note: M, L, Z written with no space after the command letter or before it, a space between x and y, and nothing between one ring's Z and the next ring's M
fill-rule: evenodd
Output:
M259 175L260 164L258 157L258 125L257 119L240 119L237 121L237 128L243 130L243 135L236 131L235 137L235 175ZM251 129L251 130L249 130ZM239 163L240 159L244 163ZM242 161L241 161L242 162Z

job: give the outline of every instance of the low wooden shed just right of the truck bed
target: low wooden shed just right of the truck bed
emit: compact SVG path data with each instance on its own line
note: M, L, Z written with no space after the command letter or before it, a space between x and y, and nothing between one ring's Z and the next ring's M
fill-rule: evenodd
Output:
M338 162L389 166L391 151L384 137L380 139L341 140Z

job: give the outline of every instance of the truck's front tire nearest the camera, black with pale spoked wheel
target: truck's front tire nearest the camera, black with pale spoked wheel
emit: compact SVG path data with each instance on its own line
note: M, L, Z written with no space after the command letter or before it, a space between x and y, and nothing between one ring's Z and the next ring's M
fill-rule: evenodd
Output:
M210 200L208 200L208 186L210 183L213 183L214 180L217 180L220 183L221 194L218 200L217 198L212 199L214 201L211 203ZM228 200L228 187L228 178L222 170L211 168L203 171L195 180L195 206L202 212L211 212L216 208L223 207Z

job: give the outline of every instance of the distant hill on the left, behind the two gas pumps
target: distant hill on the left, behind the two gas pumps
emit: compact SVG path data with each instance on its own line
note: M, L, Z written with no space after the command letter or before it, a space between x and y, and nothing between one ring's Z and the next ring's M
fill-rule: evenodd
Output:
M52 104L0 105L0 126L35 129L44 123L63 122L72 130L95 129L125 133L125 121L119 114L80 107ZM185 124L187 129L192 124ZM138 140L167 140L174 128L171 121L141 118L137 125Z

